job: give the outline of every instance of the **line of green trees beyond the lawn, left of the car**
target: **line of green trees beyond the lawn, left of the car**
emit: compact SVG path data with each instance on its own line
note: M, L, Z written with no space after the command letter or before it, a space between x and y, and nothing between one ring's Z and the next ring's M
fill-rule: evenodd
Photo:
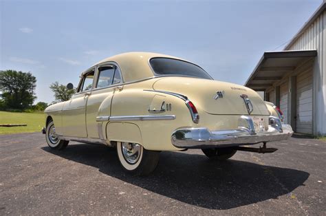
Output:
M67 89L58 82L52 83L50 89L55 100L51 103L69 100L76 89ZM47 102L37 102L35 96L36 77L31 72L17 72L12 69L0 71L0 110L9 111L43 111Z

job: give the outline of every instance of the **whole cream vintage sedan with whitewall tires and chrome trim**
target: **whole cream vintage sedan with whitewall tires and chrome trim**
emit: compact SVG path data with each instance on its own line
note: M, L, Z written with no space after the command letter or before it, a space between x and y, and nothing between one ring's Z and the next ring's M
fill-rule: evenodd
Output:
M49 147L64 149L69 140L116 147L123 169L135 175L151 173L160 151L202 149L226 160L236 151L276 151L266 142L293 133L256 91L164 54L106 58L81 74L76 89L71 100L45 109ZM248 147L257 143L263 147Z

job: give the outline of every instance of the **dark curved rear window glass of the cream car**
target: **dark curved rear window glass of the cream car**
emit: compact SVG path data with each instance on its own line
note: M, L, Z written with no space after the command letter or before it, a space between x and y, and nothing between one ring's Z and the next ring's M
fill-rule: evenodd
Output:
M186 61L173 58L152 58L149 63L157 75L182 75L212 79L204 69Z

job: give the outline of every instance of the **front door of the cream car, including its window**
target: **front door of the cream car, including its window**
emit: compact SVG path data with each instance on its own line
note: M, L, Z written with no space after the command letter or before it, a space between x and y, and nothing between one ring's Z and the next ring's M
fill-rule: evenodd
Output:
M63 135L87 138L86 105L94 85L95 68L85 72L80 80L77 93L63 105Z

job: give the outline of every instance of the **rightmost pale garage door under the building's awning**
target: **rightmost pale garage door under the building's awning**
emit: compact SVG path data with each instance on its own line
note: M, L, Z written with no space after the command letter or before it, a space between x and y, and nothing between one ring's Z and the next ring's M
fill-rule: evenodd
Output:
M296 132L312 133L312 69L296 76Z

